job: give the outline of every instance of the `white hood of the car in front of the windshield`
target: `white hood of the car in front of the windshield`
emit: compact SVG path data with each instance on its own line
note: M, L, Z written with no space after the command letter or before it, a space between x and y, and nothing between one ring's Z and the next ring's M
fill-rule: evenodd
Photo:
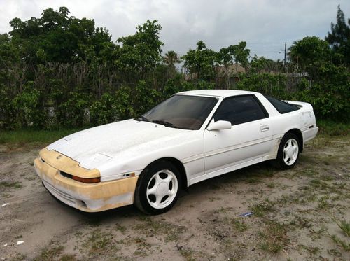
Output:
M48 150L71 157L80 162L80 167L94 169L126 150L164 147L172 141L179 141L181 136L185 138L188 132L191 131L152 122L123 120L76 132L50 144Z

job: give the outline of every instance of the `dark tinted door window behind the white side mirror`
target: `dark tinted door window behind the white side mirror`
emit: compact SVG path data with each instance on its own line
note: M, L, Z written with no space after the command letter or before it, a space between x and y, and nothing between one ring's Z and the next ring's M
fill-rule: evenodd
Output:
M227 120L232 125L238 125L267 117L267 112L252 95L244 95L225 99L218 107L214 120Z

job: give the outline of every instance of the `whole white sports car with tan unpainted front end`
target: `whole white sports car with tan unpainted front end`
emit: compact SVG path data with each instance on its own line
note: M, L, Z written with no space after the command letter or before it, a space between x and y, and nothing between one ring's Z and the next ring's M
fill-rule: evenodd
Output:
M71 134L34 160L45 188L87 212L159 214L179 190L265 160L295 165L318 131L310 104L258 92L180 92L139 118Z

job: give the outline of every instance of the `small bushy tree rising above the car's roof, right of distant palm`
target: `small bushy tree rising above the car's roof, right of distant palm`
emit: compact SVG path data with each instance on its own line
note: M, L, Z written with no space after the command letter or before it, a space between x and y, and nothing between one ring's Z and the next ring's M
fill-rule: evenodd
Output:
M211 80L216 74L216 67L219 64L218 53L208 49L203 41L197 43L197 49L189 50L181 57L193 76L197 79Z

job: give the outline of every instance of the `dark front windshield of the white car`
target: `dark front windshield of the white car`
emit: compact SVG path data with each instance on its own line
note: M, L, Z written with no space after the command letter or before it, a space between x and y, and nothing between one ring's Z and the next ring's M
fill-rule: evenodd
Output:
M213 97L174 95L136 120L179 129L200 129L216 102Z

